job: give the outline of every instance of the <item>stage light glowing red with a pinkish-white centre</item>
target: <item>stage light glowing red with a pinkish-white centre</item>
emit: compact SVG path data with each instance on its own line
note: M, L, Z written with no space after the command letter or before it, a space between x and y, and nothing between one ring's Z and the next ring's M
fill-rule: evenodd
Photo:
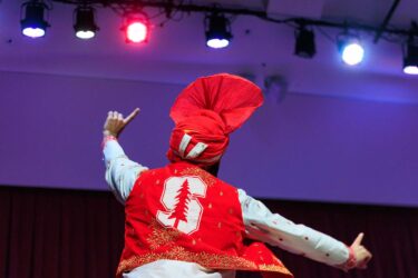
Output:
M148 17L145 13L127 17L123 30L127 42L147 42L149 36Z

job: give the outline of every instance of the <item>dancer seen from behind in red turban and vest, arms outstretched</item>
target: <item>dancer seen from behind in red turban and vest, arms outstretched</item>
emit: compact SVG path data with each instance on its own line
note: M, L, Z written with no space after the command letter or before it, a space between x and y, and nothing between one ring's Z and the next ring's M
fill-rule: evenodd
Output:
M347 247L272 214L216 177L229 135L262 102L260 88L243 78L221 73L197 79L172 107L171 163L159 169L129 160L117 141L139 109L126 118L108 113L106 180L126 214L118 277L233 278L235 270L292 277L262 242L346 271L367 267L371 254L361 245L363 234ZM257 241L245 246L244 238Z

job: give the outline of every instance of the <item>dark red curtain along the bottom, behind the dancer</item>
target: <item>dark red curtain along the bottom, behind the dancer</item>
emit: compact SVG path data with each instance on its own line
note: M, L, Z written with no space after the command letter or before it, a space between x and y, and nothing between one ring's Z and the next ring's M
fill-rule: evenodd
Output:
M417 208L264 202L347 244L366 232L375 257L364 271L344 274L274 249L297 278L418 278ZM123 234L123 206L110 192L0 187L0 278L114 277Z

